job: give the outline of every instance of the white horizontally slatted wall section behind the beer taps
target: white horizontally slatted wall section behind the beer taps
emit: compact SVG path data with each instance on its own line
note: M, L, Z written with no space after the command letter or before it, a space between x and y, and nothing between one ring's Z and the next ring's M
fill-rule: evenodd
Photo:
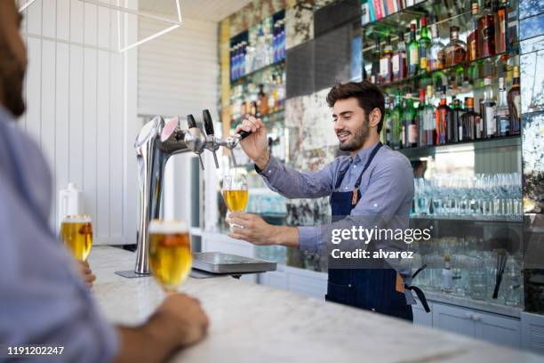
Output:
M181 3L183 12L183 3ZM154 20L140 19L139 38L165 28ZM138 112L140 115L186 116L197 121L202 110L217 116L219 100L218 24L184 17L180 28L142 44L138 50ZM216 127L220 133L220 127ZM190 221L189 162L193 154L172 157L164 178L164 215ZM206 183L215 183L215 166L204 155ZM215 198L215 196L214 196ZM211 206L208 202L207 205Z

